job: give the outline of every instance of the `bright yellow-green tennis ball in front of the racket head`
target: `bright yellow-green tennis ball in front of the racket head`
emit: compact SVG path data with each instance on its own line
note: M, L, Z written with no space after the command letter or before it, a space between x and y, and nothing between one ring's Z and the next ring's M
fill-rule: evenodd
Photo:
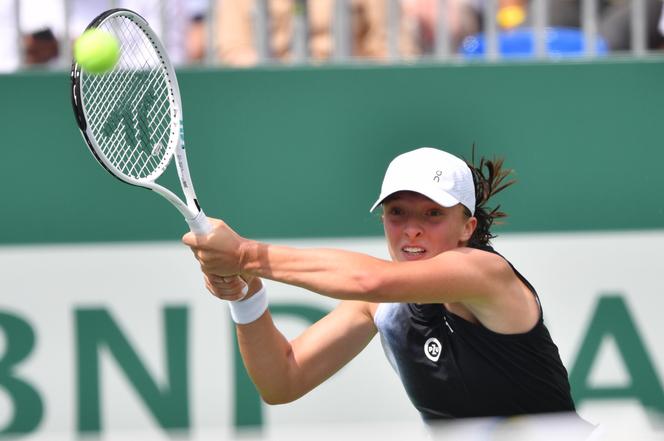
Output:
M83 32L74 43L74 58L89 73L101 74L113 69L119 57L118 40L98 28Z

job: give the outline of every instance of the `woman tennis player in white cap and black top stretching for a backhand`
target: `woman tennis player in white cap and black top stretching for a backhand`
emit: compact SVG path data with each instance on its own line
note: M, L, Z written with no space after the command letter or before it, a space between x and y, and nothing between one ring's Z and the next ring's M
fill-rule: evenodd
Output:
M397 156L378 200L391 261L245 239L219 220L188 233L208 289L231 301L242 357L267 403L306 394L380 334L425 420L573 411L567 372L535 289L489 240L502 161L478 166L433 148ZM239 274L249 281L243 296ZM340 299L287 341L261 278Z

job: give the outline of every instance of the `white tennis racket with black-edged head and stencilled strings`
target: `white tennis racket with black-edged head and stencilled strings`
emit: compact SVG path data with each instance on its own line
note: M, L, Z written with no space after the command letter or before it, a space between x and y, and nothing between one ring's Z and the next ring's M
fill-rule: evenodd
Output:
M109 32L120 46L117 64L103 74L72 65L74 114L90 151L116 178L166 198L192 232L209 233L189 176L180 91L164 46L145 19L127 9L102 13L90 28ZM155 182L173 156L186 202Z

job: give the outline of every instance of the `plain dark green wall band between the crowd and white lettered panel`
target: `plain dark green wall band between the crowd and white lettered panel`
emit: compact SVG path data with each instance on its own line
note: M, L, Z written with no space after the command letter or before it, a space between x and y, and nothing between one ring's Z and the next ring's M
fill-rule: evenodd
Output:
M664 228L664 61L179 72L205 211L249 237L381 234L397 153L502 155L500 231ZM59 73L0 76L0 243L172 240L186 225L87 152ZM168 176L171 182L173 176Z

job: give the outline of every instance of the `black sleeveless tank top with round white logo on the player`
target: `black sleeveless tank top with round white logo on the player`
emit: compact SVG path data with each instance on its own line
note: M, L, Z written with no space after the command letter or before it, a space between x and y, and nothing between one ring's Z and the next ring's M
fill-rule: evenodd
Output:
M523 334L493 332L442 304L382 303L374 320L425 420L574 411L567 371L541 307L539 321Z

